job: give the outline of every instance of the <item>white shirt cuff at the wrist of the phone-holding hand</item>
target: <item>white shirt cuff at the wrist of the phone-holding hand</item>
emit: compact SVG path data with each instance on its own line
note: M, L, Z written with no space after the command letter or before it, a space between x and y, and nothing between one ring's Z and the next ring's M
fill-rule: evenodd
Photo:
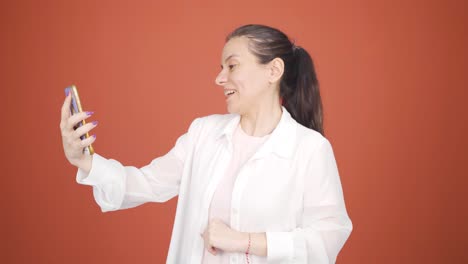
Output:
M108 160L101 155L94 153L92 155L91 170L86 173L85 170L78 168L76 173L76 182L83 185L99 185L111 181L109 174Z

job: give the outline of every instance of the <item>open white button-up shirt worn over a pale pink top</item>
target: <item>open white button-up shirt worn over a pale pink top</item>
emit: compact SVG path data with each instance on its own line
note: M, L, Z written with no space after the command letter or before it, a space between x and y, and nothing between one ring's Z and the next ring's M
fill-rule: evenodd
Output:
M231 201L230 227L265 232L267 257L250 263L335 263L348 239L348 217L330 142L297 123L282 107L277 127L239 169ZM141 168L95 153L89 174L76 181L93 187L102 212L165 202L179 195L166 263L201 263L208 209L229 165L238 114L192 121L164 156ZM246 245L247 246L247 245ZM234 254L231 263L245 263Z

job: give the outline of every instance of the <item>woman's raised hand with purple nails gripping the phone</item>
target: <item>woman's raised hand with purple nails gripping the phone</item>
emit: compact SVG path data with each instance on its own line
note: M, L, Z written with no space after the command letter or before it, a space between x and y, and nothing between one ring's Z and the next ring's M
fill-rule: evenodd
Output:
M84 111L71 115L70 104L71 94L69 93L63 102L62 118L60 120L63 150L65 152L65 157L72 165L89 172L89 170L91 170L92 157L90 155L86 155L83 152L83 149L92 144L96 140L96 136L93 135L83 140L80 137L95 128L97 126L97 121L86 123L74 130L73 127L75 127L80 121L90 117L93 112Z

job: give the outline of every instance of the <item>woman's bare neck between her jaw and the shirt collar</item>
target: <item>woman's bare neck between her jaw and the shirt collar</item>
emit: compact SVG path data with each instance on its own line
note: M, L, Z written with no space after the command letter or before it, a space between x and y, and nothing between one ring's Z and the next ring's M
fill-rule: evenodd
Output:
M259 106L241 116L242 130L250 136L263 137L276 128L283 111L279 101L277 104Z

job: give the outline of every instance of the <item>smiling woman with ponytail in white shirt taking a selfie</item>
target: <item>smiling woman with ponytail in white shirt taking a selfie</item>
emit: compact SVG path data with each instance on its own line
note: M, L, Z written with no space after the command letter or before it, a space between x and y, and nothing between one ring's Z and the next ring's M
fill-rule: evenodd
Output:
M179 195L167 263L334 263L352 230L324 137L312 59L281 31L245 25L226 39L229 114L199 117L175 146L136 168L83 148L90 115L62 107L65 155L103 212Z

